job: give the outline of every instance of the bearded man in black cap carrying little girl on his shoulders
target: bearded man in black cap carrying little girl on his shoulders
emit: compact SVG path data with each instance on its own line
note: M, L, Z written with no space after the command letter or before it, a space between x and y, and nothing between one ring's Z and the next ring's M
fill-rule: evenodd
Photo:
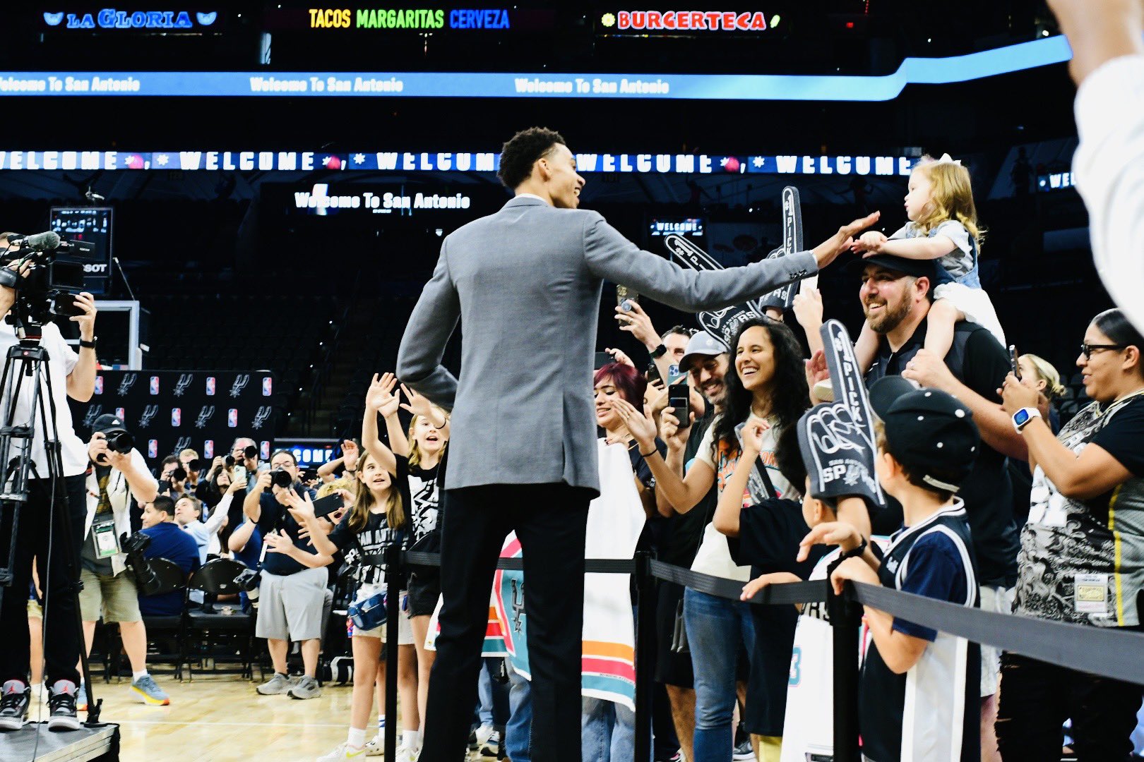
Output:
M982 433L974 470L958 496L966 502L977 556L982 608L1008 613L1017 580L1017 524L1012 515L1007 456L1027 457L1020 434L1001 410L1000 388L1009 372L1009 355L988 329L959 322L953 347L943 359L922 348L928 327L935 266L931 260L880 254L861 262L863 312L882 343L866 376L869 386L883 376L903 376L921 386L955 396L972 412ZM901 526L896 502L874 516L874 532ZM995 748L993 719L1000 653L982 647L982 748Z

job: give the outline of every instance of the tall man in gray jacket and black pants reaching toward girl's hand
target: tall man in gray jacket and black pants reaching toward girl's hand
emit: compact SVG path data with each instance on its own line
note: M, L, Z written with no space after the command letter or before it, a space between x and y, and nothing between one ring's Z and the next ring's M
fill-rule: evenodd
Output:
M688 312L739 304L805 278L877 219L813 251L723 271L641 251L595 211L559 134L518 133L500 178L516 198L448 235L410 316L402 380L451 409L442 530L440 634L421 760L464 757L488 592L505 536L524 552L532 757L580 761L580 635L588 503L599 492L591 369L604 279ZM442 366L463 326L462 372Z

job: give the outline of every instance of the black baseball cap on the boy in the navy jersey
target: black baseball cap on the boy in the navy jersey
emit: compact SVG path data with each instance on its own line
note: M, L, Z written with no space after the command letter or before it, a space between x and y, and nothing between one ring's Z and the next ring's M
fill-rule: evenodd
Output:
M893 458L930 487L956 492L974 468L982 438L969 408L952 394L919 388L901 376L869 387ZM935 476L934 474L939 474Z

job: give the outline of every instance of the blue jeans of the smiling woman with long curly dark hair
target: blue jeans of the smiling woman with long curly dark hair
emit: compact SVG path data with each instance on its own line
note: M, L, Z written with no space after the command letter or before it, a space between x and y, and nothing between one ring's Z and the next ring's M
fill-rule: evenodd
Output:
M749 655L755 645L750 609L689 587L683 592L683 624L696 673L696 760L730 762L736 661L739 651Z

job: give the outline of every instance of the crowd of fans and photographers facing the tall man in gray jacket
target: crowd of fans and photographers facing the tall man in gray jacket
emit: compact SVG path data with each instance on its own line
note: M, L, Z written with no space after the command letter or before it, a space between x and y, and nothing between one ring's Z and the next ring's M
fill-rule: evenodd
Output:
M682 326L661 336L637 303L617 307L650 363L644 371L609 348L593 383L603 446L628 455L644 519L639 546L745 586L742 601L731 601L658 583L656 661L639 665L656 675L656 760L832 753L827 615L819 604L800 611L746 602L769 584L831 576L836 587L853 579L992 611L1141 628L1144 337L1118 310L1094 318L1077 358L1091 402L1062 420L1058 370L1025 354L1014 372L1000 327L972 313L987 297L960 294L979 288L970 275L982 228L968 193L964 168L923 162L909 182L909 222L855 246L864 255L853 278L867 319L857 355L880 419L881 510L811 488L796 430L833 394L817 291L804 290L779 319L744 321L730 343ZM669 404L668 387L680 379L686 411ZM375 376L360 438L344 440L341 456L309 479L288 450L262 462L248 439L209 463L183 450L152 472L137 451L109 448L120 430L122 422L102 416L87 444L80 604L88 650L98 620L118 623L132 690L145 703L169 701L148 673L143 617L178 616L202 600L137 589L116 538L140 531L150 540L146 558L184 575L220 556L257 571L235 603L255 611L255 635L267 642L272 675L257 692L313 698L323 691L325 633L332 617L343 618L331 611L334 588L348 578L349 731L321 759L376 755L391 709L381 691L386 628L378 615L386 595L398 594L398 757L416 759L440 580L415 567L400 591L387 591L384 554L391 546L440 548L446 411L399 390L391 374ZM33 583L33 608L39 595ZM978 649L873 609L865 621L867 759L929 759L935 749L963 760L1054 759L1068 743L1080 759L1120 760L1133 749L1138 685ZM294 675L292 644L301 657ZM529 681L511 663L486 666L471 745L527 760ZM367 738L374 700L379 727ZM627 706L586 695L583 733L586 760L631 759Z

